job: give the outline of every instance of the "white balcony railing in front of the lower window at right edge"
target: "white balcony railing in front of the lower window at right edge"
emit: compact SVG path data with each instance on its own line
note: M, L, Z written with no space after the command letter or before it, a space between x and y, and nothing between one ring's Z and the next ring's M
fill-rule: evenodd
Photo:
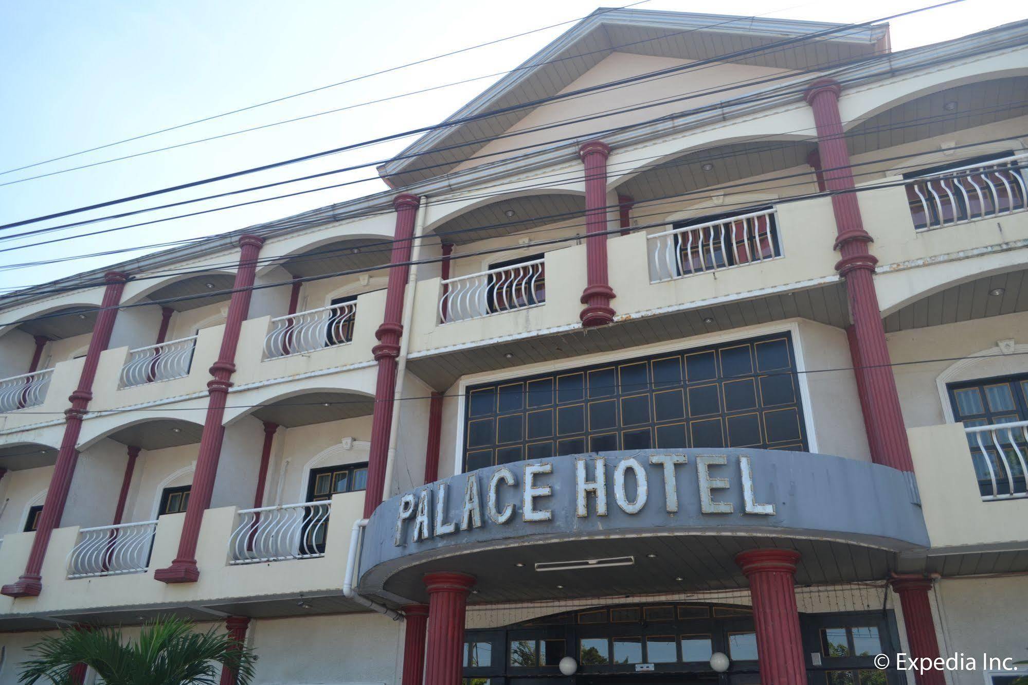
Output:
M1028 421L964 428L983 500L1028 497Z

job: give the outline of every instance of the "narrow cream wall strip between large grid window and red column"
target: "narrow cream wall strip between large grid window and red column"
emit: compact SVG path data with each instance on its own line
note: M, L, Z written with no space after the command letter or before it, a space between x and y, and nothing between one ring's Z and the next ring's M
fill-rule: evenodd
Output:
M856 394L856 378L846 331L813 321L800 321L810 405L805 407L814 424L817 450L849 459L871 461L864 414ZM823 369L841 369L823 371Z

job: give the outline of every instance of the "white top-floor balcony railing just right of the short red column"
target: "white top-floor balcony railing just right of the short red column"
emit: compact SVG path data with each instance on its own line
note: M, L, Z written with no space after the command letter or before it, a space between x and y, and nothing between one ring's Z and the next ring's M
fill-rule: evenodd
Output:
M672 228L647 242L651 283L781 256L774 208Z

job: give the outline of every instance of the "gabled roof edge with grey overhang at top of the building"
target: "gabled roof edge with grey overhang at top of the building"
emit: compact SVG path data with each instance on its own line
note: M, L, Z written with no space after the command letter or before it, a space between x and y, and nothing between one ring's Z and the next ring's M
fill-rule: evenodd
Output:
M444 123L550 98L615 51L689 61L715 60L726 56L726 61L736 64L788 70L814 69L819 65L888 51L888 26L878 25L849 28L785 48L728 57L741 50L846 26L725 14L600 8L510 71L447 117ZM497 116L431 131L379 167L378 173L392 187L403 187L445 174L531 110L533 106L528 104ZM454 146L458 147L445 149Z

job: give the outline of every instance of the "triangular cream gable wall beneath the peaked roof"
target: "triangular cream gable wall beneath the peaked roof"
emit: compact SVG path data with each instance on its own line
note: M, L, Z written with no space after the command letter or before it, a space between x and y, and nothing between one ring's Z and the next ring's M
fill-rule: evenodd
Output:
M689 60L631 55L628 52L612 52L603 58L595 67L562 88L560 93L572 93L609 81L688 64L690 64ZM600 119L561 125L548 131L526 133L497 140L484 146L475 156L458 166L456 171L470 169L483 161L493 161L513 156L518 154L515 148L525 145L543 144L576 136L592 137L593 132L597 130L638 123L665 114L696 109L704 105L720 102L726 97L741 97L757 88L767 87L767 85L740 85L733 88L727 96L724 93L713 93L705 96L690 97L688 100L681 100L675 96L719 88L723 87L726 83L762 79L783 73L786 73L786 71L782 69L739 64L721 64L704 67L703 69L690 70L685 73L676 73L662 78L644 80L620 86L616 91L604 89L592 95L573 96L564 100L557 100L536 107L506 133L523 132L557 121L582 118L586 113L599 113L616 109L620 106L616 103L642 104L663 100L675 100L675 102L656 105L632 112L613 114ZM586 139L583 138L583 140Z

